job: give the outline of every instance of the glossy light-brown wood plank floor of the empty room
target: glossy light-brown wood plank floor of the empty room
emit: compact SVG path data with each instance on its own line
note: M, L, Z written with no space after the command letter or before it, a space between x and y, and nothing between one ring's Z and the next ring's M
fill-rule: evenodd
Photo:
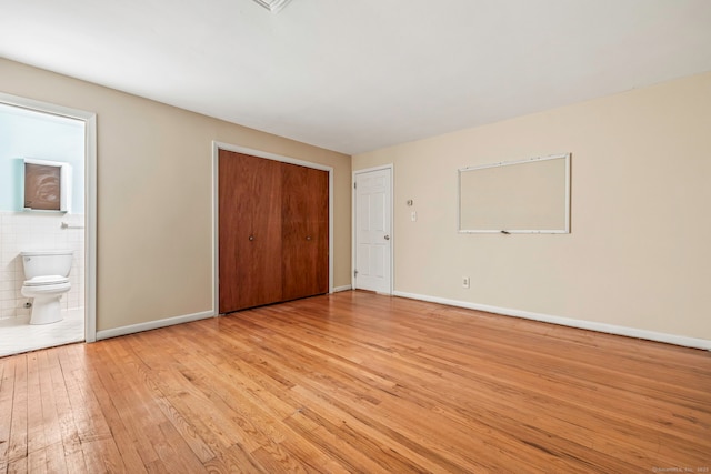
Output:
M709 352L367 292L0 376L0 473L711 470Z

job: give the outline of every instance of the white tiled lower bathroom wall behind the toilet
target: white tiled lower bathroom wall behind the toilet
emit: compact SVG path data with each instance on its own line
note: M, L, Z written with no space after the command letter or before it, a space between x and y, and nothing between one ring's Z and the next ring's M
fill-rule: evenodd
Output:
M83 307L84 302L84 226L82 214L40 212L0 212L0 319L29 314L20 289L24 282L20 252L28 250L74 251L69 280L71 290L61 300L62 310Z

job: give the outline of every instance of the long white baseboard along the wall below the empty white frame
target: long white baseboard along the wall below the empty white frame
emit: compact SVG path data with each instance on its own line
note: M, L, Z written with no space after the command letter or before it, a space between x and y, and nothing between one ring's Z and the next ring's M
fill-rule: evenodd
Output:
M431 303L447 304L449 306L465 307L468 310L485 311L487 313L501 314L504 316L523 317L527 320L541 321L544 323L559 324L563 326L578 327L589 331L598 331L608 334L624 335L628 337L644 339L668 344L682 345L685 347L703 349L711 351L711 341L705 339L688 337L677 334L667 334L654 331L640 330L634 327L618 326L614 324L598 323L594 321L573 320L571 317L553 316L550 314L532 313L530 311L511 310L508 307L490 306L487 304L469 303L465 301L448 300L444 297L429 296L417 293L405 293L395 291L393 296L409 297L411 300L429 301Z

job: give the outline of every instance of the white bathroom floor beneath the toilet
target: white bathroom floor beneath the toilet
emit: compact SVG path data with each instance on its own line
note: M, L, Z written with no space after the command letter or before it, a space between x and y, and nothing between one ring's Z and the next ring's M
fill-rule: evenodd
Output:
M57 323L30 325L30 316L0 320L0 357L84 340L84 312L63 312Z

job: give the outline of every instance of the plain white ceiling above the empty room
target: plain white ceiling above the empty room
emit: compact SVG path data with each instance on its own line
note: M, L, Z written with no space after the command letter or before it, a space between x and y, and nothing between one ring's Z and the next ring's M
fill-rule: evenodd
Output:
M0 0L0 57L349 154L711 70L711 0Z

